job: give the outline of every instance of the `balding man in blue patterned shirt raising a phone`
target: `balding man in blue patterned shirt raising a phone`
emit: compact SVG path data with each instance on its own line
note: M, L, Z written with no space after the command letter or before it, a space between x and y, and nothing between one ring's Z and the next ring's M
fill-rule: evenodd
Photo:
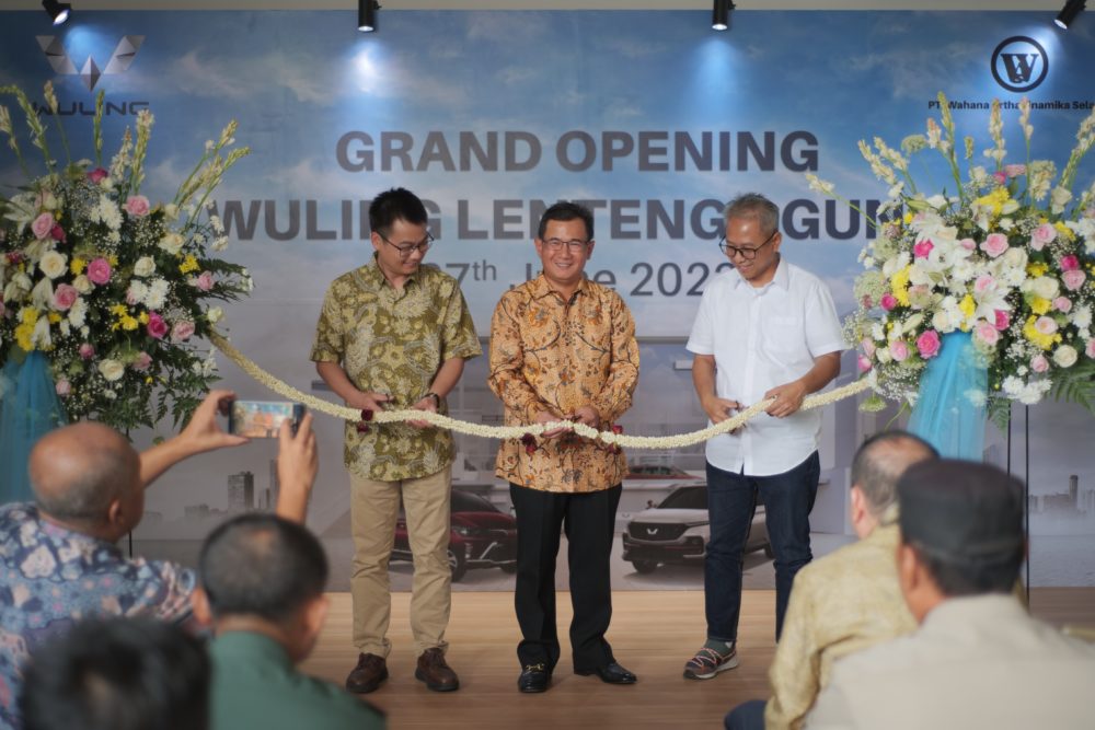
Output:
M90 615L189 615L194 572L143 558L115 543L137 526L145 489L184 459L246 443L217 422L229 391L212 391L182 433L137 453L101 424L80 422L43 437L31 452L34 503L0 507L0 727L19 727L21 665L45 638ZM318 457L311 416L296 436L280 433L278 513L302 521Z

